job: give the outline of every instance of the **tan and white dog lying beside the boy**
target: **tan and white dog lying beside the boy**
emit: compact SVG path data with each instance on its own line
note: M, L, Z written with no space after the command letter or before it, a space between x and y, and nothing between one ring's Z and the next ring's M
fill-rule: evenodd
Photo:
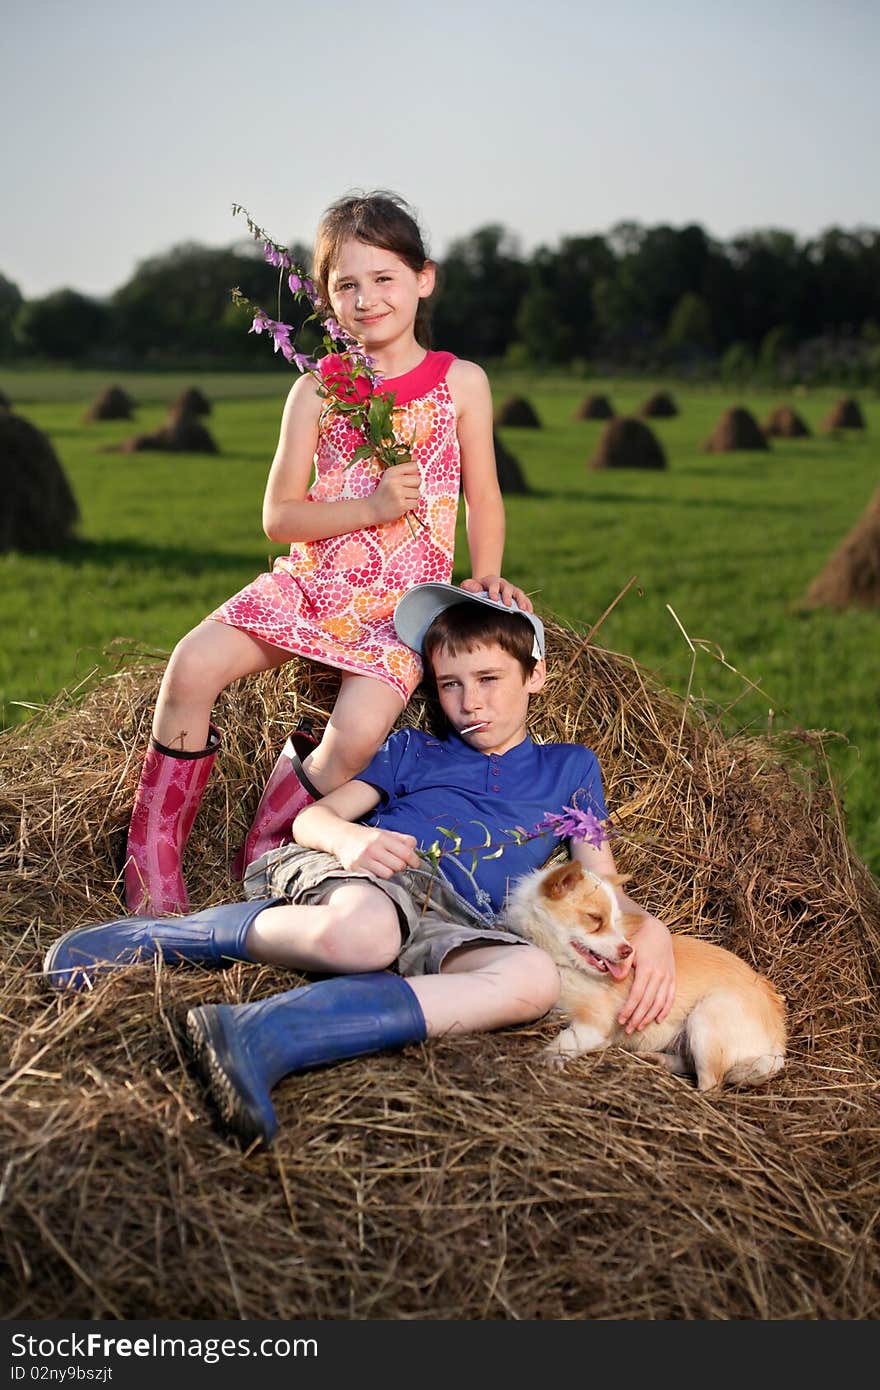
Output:
M630 991L628 934L644 920L624 912L614 888L628 874L599 876L577 859L537 869L513 888L506 924L555 960L557 1011L571 1019L546 1048L556 1066L617 1045L696 1074L696 1087L758 1086L785 1062L785 1005L770 981L723 947L673 933L676 998L662 1023L627 1034L617 1015Z

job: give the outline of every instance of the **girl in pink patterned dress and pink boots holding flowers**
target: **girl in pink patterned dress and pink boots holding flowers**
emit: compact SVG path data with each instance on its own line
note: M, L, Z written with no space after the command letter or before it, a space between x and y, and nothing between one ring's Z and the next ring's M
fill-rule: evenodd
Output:
M304 806L366 767L421 678L392 613L412 585L450 580L459 484L473 575L462 588L531 612L500 577L505 510L488 379L474 363L427 348L435 267L406 203L388 193L334 203L316 236L313 279L321 310L370 354L380 389L393 392L395 434L413 441L412 461L352 463L364 436L318 393L314 374L291 389L263 500L266 535L291 550L171 655L128 831L132 913L189 908L181 858L221 741L211 709L232 681L293 652L343 673L321 742L300 762L288 739L236 858L239 876L291 838Z

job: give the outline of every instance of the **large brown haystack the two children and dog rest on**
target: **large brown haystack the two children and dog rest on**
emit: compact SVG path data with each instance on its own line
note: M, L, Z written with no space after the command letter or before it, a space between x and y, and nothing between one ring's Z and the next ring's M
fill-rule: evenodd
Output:
M727 738L631 660L548 623L532 733L605 769L631 891L787 995L772 1084L698 1095L620 1052L563 1074L559 1027L443 1040L281 1083L272 1150L211 1125L181 1022L281 970L135 966L61 998L40 958L118 913L160 667L135 660L0 741L0 1297L7 1318L865 1319L880 1315L880 888L791 749ZM285 733L336 677L295 659L218 702L186 855L227 863ZM416 696L403 716L430 724ZM792 737L812 749L823 739Z

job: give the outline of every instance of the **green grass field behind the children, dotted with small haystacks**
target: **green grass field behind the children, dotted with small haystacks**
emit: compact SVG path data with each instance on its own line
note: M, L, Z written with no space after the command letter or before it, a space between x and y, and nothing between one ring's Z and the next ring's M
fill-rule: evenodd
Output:
M83 424L111 379L140 402L136 420ZM260 506L289 381L281 373L0 374L13 409L50 435L82 512L75 545L0 556L3 724L110 669L117 639L167 653L278 553L260 530ZM207 424L220 457L104 452L158 425L190 384L214 402ZM582 631L637 575L596 642L680 694L692 677L692 696L727 709L730 728L840 734L830 755L851 840L879 873L880 610L804 612L799 599L880 482L880 402L861 395L863 434L708 455L701 445L728 404L762 420L790 399L816 428L842 392L671 385L681 414L652 421L669 468L610 473L587 467L603 423L576 421L574 409L603 391L619 414L634 413L653 384L499 374L492 388L496 400L527 395L542 420L539 430L502 431L532 488L506 499L505 573L539 610ZM456 578L467 573L460 531Z

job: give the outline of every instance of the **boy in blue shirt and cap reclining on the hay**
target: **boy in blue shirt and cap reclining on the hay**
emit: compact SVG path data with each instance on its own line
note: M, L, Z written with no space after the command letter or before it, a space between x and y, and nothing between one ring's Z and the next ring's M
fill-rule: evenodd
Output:
M291 1072L528 1023L559 997L549 956L503 930L509 883L551 849L546 837L516 830L531 831L548 810L574 803L599 820L608 812L589 749L535 745L525 731L530 699L546 677L542 623L485 594L421 584L398 603L395 626L424 653L449 723L445 738L392 734L357 778L300 812L295 844L250 866L250 901L82 927L46 956L57 988L82 988L110 963L156 954L332 974L256 1004L188 1013L199 1070L245 1144L271 1141L270 1090ZM434 863L417 853L438 844ZM571 853L614 873L608 841L573 842ZM663 923L617 892L645 919L620 1016L633 1031L669 1012L674 965ZM388 969L395 962L399 974Z

